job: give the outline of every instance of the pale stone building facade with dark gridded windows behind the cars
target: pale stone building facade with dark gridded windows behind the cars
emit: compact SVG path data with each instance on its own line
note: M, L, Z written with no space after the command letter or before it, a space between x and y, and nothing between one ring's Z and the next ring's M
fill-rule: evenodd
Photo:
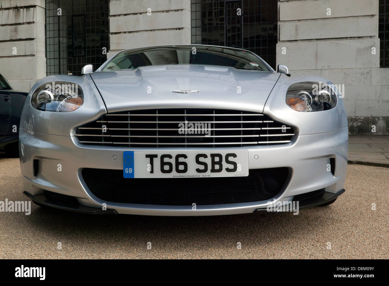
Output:
M328 78L350 133L389 134L389 0L0 0L0 73L18 90L160 44L235 46Z

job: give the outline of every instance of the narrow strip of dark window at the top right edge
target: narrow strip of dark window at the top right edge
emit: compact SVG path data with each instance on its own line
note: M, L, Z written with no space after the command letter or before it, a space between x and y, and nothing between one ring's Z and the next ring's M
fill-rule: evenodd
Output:
M380 67L389 67L389 0L379 0L378 37L380 38Z

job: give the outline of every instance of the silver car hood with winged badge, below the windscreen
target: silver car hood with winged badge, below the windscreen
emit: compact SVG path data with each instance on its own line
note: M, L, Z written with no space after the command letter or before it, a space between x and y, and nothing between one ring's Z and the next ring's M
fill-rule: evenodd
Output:
M90 75L108 112L182 107L262 112L280 77L275 72L212 65L158 65Z

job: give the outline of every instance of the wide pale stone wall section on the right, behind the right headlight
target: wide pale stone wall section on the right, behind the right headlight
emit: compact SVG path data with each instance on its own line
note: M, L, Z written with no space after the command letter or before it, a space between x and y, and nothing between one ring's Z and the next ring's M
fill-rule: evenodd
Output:
M380 68L378 0L280 0L277 64L292 76L344 84L351 134L389 134L389 69Z

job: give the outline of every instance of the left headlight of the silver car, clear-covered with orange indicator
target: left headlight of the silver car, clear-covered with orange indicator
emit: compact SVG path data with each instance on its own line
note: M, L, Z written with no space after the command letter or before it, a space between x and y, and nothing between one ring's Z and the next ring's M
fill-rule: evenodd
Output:
M31 105L43 111L69 112L84 103L84 94L77 83L53 81L39 86L31 97Z

